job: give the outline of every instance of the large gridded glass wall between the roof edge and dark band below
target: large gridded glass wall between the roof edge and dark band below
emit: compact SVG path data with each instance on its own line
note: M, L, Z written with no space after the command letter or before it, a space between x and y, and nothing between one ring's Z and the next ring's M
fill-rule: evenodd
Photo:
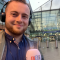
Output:
M36 31L60 30L60 10L35 12L32 14L32 24Z

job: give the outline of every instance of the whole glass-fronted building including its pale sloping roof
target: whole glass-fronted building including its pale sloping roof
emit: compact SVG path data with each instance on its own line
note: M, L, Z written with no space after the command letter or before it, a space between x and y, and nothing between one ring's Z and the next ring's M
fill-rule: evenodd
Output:
M58 2L58 4L56 3ZM32 14L32 25L30 37L54 37L60 40L60 4L59 0L49 0L35 9Z

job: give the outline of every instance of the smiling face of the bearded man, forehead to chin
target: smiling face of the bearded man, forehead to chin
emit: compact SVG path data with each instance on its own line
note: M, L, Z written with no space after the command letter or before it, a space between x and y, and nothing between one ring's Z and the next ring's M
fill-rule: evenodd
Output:
M13 1L7 6L5 13L5 31L15 35L24 33L29 23L29 7L21 2Z

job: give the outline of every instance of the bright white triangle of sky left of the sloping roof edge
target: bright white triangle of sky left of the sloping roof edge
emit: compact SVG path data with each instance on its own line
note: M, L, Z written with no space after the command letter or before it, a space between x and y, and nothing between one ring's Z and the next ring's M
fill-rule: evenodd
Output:
M32 10L34 11L36 8L47 2L48 0L30 0Z

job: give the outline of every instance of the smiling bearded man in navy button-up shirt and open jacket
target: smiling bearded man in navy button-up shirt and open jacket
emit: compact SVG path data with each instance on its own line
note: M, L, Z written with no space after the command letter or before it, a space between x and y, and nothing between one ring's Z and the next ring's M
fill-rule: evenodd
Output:
M28 4L18 0L8 2L5 17L5 32L0 32L0 60L25 60L26 51L34 46L24 35L30 17Z

